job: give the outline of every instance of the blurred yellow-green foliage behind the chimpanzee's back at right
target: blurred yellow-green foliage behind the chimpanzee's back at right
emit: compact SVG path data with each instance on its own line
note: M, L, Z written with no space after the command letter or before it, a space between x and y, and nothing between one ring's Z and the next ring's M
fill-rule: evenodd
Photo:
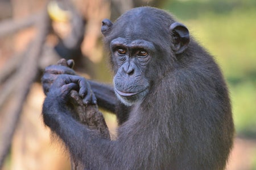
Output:
M215 57L232 98L237 134L256 137L256 1L168 1L164 9L185 23Z

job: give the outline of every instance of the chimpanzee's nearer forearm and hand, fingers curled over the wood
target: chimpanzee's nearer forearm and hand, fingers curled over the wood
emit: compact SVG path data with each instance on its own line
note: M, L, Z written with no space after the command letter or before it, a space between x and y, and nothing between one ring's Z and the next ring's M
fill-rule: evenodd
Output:
M98 159L104 160L104 163L109 162L110 158L106 155L112 154L109 152L104 156L102 150L112 146L113 142L72 118L73 113L68 104L71 90L79 92L84 103L93 104L96 99L85 78L61 74L53 82L44 101L43 120L63 140L74 160L81 161L86 167L97 169ZM106 167L110 165L110 162L105 164Z

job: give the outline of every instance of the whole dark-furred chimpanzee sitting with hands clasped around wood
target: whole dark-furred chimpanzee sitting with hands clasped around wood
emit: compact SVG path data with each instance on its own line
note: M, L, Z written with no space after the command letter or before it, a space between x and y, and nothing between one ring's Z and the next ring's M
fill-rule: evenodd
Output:
M101 31L113 88L57 65L42 79L44 123L73 159L86 169L225 169L234 133L228 89L187 27L166 11L138 7L114 23L104 19ZM84 103L97 98L117 114L117 139L104 139L72 118L72 89Z

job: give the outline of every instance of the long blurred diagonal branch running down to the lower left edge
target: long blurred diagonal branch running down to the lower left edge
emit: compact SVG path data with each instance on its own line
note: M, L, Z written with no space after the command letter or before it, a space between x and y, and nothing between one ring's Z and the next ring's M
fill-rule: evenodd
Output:
M7 120L4 121L5 125L3 125L5 129L0 134L0 139L2 140L0 145L0 169L9 152L11 139L13 138L23 103L26 101L27 94L38 73L38 60L42 54L42 47L49 31L49 17L46 9L43 12L42 18L37 20L36 25L38 26L38 34L36 34L35 41L28 51L28 58L15 74L15 78L18 79L19 83L16 84L16 88L13 91L14 97L12 98L12 102L14 105L11 105L8 109L7 113L9 115Z

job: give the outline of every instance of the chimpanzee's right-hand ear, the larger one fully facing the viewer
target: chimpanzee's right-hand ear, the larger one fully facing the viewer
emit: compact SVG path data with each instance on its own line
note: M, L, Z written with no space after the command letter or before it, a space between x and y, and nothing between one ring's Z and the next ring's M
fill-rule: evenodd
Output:
M175 22L170 26L172 36L174 36L174 51L176 54L182 53L189 44L189 31L183 24Z

